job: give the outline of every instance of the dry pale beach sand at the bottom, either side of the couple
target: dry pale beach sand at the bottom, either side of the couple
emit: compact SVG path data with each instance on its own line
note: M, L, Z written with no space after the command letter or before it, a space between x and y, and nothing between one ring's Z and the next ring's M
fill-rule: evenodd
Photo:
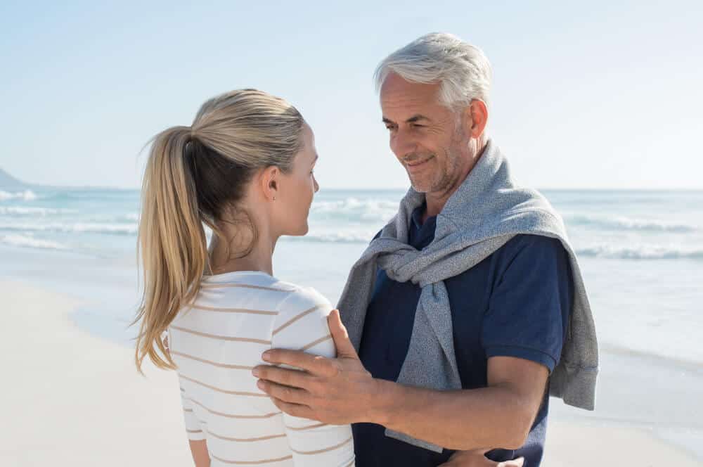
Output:
M78 298L24 281L1 280L5 325L0 350L8 402L0 465L192 466L176 376L146 365L129 348L72 323ZM641 428L597 419L550 422L544 467L701 466Z

